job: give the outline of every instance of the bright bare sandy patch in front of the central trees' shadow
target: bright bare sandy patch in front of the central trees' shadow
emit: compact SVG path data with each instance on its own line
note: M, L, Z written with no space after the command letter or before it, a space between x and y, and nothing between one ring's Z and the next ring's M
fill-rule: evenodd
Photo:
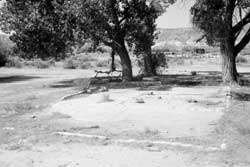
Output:
M199 137L211 133L223 114L224 99L209 97L218 92L214 87L170 91L118 89L59 102L51 112L98 125L110 133L152 130L165 137ZM105 96L110 99L105 101ZM199 102L204 104L197 105Z

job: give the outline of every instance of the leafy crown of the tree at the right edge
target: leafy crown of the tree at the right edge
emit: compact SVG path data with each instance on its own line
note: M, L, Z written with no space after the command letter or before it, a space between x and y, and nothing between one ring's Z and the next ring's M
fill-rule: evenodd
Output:
M231 38L239 53L250 40L249 0L196 0L191 9L192 22L203 33L208 44L215 45ZM247 42L248 41L248 42Z

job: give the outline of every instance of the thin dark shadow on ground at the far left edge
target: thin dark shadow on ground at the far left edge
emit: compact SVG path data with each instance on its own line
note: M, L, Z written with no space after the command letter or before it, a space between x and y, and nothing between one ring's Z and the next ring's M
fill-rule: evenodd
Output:
M24 76L24 75L5 76L5 77L0 77L0 84L1 83L12 83L12 82L27 81L27 80L37 79L37 78L40 78L40 77Z

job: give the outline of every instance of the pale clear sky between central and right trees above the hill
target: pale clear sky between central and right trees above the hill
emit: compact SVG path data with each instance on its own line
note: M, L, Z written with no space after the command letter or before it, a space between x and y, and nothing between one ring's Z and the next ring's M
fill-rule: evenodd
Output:
M194 0L178 0L159 17L157 20L158 28L192 27L189 10L193 3Z

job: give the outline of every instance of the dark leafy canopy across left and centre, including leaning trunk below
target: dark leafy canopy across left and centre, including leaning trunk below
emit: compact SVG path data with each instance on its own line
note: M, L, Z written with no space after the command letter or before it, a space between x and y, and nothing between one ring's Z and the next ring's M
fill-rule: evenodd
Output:
M26 57L65 53L77 41L103 43L121 58L132 78L127 45L136 53L151 48L157 17L175 0L7 0L1 9L5 31Z

